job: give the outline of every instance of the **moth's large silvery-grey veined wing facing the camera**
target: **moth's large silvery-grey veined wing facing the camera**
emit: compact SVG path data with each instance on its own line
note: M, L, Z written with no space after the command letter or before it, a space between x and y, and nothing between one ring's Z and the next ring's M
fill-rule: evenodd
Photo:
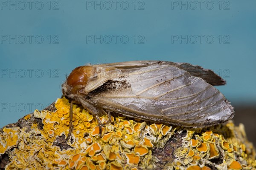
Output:
M193 76L195 66L162 61L96 66L109 75L91 85L90 102L96 107L187 127L215 125L233 117L233 107L224 95L203 78Z

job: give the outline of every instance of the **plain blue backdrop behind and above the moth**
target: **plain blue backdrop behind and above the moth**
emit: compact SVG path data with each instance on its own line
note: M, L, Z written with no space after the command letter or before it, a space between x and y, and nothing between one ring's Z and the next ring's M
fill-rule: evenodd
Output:
M65 74L85 63L192 63L226 79L227 85L217 88L232 104L255 104L256 1L200 5L168 0L117 1L116 6L112 0L42 0L29 6L27 1L1 0L0 127L60 98ZM88 39L94 36L102 36L102 43Z

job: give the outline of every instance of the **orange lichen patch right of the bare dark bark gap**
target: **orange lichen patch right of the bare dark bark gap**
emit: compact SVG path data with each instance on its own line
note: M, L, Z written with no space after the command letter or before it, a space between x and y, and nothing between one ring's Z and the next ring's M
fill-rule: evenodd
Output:
M256 170L255 149L246 141L242 124L235 127L229 121L215 127L183 130L187 135L182 147L174 152L173 169L181 170L185 165L186 170Z

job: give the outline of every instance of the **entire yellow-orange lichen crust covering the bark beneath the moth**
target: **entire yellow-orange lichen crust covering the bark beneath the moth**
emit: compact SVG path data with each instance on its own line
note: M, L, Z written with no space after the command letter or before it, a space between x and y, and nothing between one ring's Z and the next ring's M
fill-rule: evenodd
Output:
M256 170L255 150L245 139L243 125L235 127L231 121L189 129L113 114L100 135L96 118L73 104L73 133L66 141L70 103L61 98L55 107L55 112L35 110L24 117L26 121L41 120L41 127L33 123L29 131L27 127L0 130L0 156L9 156L6 170L157 169L161 162L154 150L165 148L175 134L181 133L185 133L182 143L172 153L166 153L166 157L172 154L174 159L165 162L163 169ZM108 116L103 115L100 120L107 122Z

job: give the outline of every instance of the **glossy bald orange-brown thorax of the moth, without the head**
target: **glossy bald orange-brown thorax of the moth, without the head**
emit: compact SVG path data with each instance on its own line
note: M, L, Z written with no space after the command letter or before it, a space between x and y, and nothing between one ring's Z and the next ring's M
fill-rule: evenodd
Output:
M67 85L70 86L70 92L77 94L80 89L84 88L88 81L96 74L93 66L79 66L70 73L67 78Z

